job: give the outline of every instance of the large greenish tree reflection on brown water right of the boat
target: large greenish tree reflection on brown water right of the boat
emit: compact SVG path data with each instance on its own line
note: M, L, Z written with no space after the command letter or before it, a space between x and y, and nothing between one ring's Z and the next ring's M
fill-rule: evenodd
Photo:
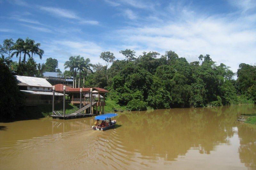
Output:
M210 154L216 145L229 143L227 137L233 136L232 127L237 123L236 109L230 106L121 114L117 123L122 126L113 140L126 151L150 159L175 160L191 147Z

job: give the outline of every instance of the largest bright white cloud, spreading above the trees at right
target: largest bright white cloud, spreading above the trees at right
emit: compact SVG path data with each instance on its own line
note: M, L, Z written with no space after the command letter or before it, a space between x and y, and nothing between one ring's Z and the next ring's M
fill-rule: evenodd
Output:
M127 27L117 31L117 36L126 46L136 46L137 52L164 54L166 50L173 50L190 62L198 60L200 54L210 54L217 64L226 60L225 64L234 72L242 62L255 62L256 29L246 20L256 19L255 15L231 19L198 16L193 11L183 10L179 17L180 21L161 25L156 22L154 26Z

